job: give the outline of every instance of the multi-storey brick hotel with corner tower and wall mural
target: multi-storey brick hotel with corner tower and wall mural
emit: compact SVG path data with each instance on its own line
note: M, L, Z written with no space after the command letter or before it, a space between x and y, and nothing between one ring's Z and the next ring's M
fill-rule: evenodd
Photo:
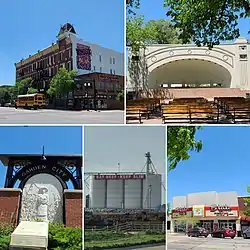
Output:
M69 23L60 28L56 43L15 66L16 80L31 77L39 92L49 88L60 67L75 70L76 90L71 98L82 106L91 107L94 101L109 105L124 89L124 54L79 39Z

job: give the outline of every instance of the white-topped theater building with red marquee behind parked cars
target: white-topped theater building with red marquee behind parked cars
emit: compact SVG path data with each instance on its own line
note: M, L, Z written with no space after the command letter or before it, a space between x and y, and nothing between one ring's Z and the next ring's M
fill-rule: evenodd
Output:
M187 216L198 220L201 227L210 232L218 228L233 228L241 231L239 222L238 195L236 192L202 192L177 196L172 203L171 230L186 231L191 222L178 218Z

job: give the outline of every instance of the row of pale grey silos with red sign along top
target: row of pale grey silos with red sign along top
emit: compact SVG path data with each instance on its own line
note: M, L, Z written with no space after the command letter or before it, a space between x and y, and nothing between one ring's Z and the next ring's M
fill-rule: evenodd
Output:
M146 173L91 176L89 207L110 209L158 209L161 175Z

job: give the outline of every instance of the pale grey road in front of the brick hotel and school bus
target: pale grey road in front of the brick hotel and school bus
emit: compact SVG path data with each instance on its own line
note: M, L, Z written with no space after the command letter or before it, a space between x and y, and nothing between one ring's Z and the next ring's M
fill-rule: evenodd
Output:
M123 111L26 110L0 107L0 124L123 124Z

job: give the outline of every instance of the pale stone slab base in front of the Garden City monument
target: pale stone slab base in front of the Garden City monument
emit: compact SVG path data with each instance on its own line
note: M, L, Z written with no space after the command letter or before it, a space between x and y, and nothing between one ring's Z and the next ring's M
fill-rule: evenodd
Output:
M22 221L11 234L11 250L47 250L48 222Z

